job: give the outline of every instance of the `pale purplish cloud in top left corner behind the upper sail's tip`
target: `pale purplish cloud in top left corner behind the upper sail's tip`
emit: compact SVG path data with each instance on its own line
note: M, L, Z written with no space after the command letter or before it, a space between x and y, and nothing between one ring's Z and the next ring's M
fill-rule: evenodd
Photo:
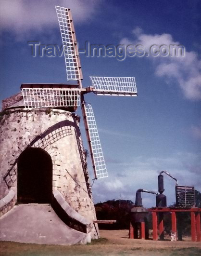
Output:
M19 38L33 30L42 31L58 27L55 5L72 10L76 23L90 20L99 1L95 0L1 0L1 31L13 31Z

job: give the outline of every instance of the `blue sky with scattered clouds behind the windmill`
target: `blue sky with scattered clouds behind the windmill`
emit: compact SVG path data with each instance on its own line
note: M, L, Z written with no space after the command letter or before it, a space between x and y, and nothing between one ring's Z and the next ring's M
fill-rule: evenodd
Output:
M95 181L95 202L135 200L139 188L157 191L167 170L179 185L201 191L201 2L179 0L1 0L0 99L22 83L67 83L63 57L33 57L27 41L61 45L55 5L71 8L80 48L91 44L181 44L183 57L87 57L89 76L135 76L138 97L86 95L95 112L109 177ZM78 110L78 114L81 114ZM85 131L81 131L87 148ZM91 179L90 159L88 166ZM164 178L168 204L175 183ZM153 195L143 194L145 206Z

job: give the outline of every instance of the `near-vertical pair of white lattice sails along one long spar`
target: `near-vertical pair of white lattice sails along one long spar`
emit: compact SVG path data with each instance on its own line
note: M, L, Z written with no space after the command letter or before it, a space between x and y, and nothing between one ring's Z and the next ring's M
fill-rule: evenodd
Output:
M67 80L77 80L78 87L82 90L82 71L76 46L75 30L70 9L56 6L57 17L62 35ZM107 177L100 139L96 127L93 110L90 105L85 105L84 95L81 94L81 109L85 124L88 146L91 154L95 178Z

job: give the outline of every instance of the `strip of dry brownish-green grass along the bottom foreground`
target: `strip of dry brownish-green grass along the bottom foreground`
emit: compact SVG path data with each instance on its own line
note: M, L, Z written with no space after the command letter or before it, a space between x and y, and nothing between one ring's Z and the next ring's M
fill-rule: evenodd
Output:
M167 242L171 243L171 242ZM136 247L135 247L136 245ZM160 246L160 243L159 243ZM185 245L184 245L185 246ZM200 256L199 247L151 247L149 244L119 244L100 238L86 245L42 245L31 243L0 242L1 256L78 256L78 255L138 255L138 256Z

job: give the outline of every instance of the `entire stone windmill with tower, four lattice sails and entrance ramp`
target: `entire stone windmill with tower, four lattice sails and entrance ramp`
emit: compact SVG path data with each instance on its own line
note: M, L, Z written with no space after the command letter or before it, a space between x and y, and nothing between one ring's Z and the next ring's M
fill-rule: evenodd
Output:
M67 80L22 84L2 101L0 120L0 240L42 244L87 243L99 231L86 151L75 114L81 106L94 179L107 177L99 134L84 94L137 96L135 78L91 77L82 72L71 12L56 6Z

